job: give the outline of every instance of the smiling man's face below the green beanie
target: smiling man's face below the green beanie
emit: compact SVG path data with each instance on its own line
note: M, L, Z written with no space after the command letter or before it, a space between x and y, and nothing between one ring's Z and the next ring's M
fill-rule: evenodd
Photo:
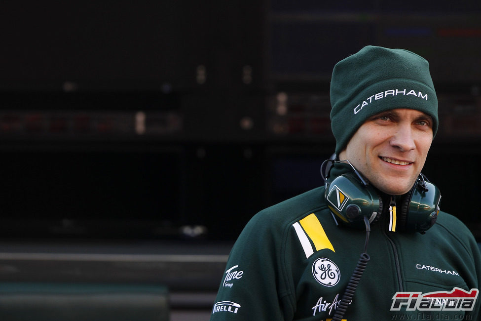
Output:
M407 193L433 141L433 120L413 109L393 109L366 120L340 160L348 160L372 185L390 195Z

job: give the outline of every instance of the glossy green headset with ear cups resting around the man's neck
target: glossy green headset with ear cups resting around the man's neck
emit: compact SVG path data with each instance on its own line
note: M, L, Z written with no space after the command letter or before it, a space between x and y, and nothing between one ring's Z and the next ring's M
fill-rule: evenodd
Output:
M321 176L326 183L324 196L328 207L344 224L364 227L364 217L375 223L384 215L383 212L390 215L389 230L392 232L424 234L436 223L441 192L422 173L409 192L392 196L387 207L379 192L349 161L335 161L335 158L334 154L322 163ZM343 172L330 179L329 174L335 164L343 165Z

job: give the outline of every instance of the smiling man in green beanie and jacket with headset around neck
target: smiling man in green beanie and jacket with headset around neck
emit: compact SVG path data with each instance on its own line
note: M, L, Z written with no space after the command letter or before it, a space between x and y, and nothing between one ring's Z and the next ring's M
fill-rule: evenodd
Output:
M427 61L367 46L334 67L331 104L325 186L251 219L211 320L479 320L477 243L420 174L438 129Z

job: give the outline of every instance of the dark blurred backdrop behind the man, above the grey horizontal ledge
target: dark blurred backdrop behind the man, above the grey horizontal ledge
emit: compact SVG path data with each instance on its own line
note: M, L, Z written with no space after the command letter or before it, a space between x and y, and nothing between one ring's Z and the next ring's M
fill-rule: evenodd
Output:
M3 1L0 30L5 252L227 254L256 212L322 184L332 69L368 44L430 62L440 129L424 173L481 239L480 1Z

